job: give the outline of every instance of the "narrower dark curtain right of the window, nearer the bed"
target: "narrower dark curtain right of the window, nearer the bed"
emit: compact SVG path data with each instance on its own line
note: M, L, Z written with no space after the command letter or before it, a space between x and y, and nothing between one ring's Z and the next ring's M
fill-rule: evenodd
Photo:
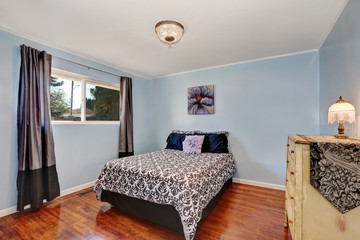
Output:
M132 155L134 155L132 79L121 77L119 158Z

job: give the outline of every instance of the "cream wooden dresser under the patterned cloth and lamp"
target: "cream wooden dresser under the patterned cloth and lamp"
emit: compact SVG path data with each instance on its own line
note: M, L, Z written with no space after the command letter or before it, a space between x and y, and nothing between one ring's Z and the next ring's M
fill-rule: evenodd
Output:
M284 225L289 227L292 239L360 239L360 207L344 214L345 231L339 228L341 215L310 185L310 142L298 135L289 135Z

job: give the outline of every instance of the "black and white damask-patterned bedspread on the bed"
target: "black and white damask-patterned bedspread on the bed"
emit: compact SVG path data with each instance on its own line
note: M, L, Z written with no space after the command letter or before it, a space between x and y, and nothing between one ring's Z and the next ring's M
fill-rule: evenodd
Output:
M188 154L164 149L115 159L105 164L94 191L124 194L179 212L185 238L193 239L202 210L235 173L231 153Z

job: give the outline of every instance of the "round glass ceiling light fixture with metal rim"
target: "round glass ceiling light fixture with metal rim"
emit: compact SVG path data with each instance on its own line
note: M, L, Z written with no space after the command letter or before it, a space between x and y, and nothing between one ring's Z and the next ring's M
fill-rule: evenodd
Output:
M180 41L184 34L184 26L179 22L165 20L155 25L155 33L161 42L171 47L172 44Z

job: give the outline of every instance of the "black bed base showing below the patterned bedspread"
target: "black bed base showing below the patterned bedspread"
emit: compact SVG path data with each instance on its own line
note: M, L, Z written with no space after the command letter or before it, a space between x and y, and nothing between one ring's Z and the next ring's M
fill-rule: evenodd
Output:
M209 204L204 208L202 217L197 227L209 216L211 210L220 200L226 188L232 183L230 178L220 189L218 194L211 199ZM119 193L103 190L101 193L101 201L108 202L116 208L134 215L139 218L149 220L160 224L177 232L183 233L183 226L179 213L171 205L156 204L142 199L128 197Z

